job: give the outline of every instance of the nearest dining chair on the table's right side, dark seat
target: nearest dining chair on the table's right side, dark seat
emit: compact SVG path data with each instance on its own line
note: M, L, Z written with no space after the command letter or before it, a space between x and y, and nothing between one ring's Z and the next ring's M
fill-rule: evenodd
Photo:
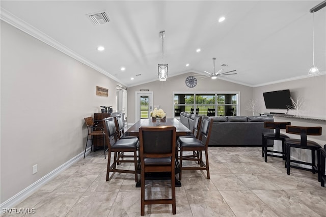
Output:
M179 137L177 141L178 148L180 149L180 173L179 180L181 180L181 173L183 170L206 170L207 179L209 179L209 162L208 162L208 142L210 132L213 125L213 119L204 117L199 138ZM198 156L183 156L184 151L199 152ZM205 151L206 164L203 162L202 151ZM199 167L182 167L183 160L199 161Z

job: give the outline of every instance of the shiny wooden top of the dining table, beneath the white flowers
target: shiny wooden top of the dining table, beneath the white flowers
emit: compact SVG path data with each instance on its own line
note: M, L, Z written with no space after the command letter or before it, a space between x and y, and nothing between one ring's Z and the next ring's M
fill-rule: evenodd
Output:
M138 137L139 136L139 128L141 126L175 126L176 127L176 135L179 137L180 135L191 135L192 131L189 130L186 126L181 124L180 121L178 121L175 118L167 118L166 122L161 122L160 125L156 125L155 122L152 121L152 119L141 119L137 121L135 124L133 124L126 132L126 137Z

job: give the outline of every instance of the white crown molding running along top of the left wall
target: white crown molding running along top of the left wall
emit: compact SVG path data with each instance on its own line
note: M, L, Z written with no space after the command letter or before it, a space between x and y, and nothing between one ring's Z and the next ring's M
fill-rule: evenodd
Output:
M9 11L7 11L6 9L4 9L2 7L0 7L0 19L7 22L8 24L14 26L18 30L21 30L22 32L24 32L26 34L29 34L30 36L44 42L45 44L47 44L47 45L49 45L49 46L51 46L51 47L65 53L66 55L68 55L69 57L77 60L78 62L83 63L83 64L91 67L92 69L106 75L107 77L112 78L116 82L124 85L121 82L121 80L119 80L118 78L116 78L112 74L110 74L107 71L103 70L102 68L100 68L96 64L94 64L91 61L85 59L84 57L78 55L76 52L72 51L71 49L69 49L68 47L66 47L63 44L59 43L55 39L53 39L53 38L49 37L48 35L44 34L43 32L36 29L31 24L29 24L29 23L23 21L22 19L16 17L15 15L13 15L12 13L10 13ZM124 85L124 86L126 86L126 85Z

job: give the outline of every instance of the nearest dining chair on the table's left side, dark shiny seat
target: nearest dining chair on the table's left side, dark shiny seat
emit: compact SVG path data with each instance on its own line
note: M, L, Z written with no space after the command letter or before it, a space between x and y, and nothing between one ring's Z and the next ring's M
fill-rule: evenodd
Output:
M105 141L108 147L108 157L107 157L107 170L106 170L106 181L109 180L110 172L118 172L118 173L133 173L135 175L135 181L138 181L137 173L135 172L137 169L137 150L139 147L139 140L137 138L131 139L123 139L118 140L116 137L116 126L113 117L104 118L103 125L105 130ZM113 163L111 164L111 153L114 152ZM132 155L125 155L125 158L133 158L133 159L120 159L118 158L119 152L132 152ZM122 170L117 169L117 165L121 162L133 162L134 170Z

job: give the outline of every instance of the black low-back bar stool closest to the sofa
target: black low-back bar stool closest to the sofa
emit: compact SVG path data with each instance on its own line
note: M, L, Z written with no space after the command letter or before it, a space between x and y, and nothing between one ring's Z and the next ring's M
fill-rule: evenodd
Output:
M273 121L265 121L264 127L267 129L275 129L275 132L263 132L262 133L262 152L263 156L265 157L265 162L267 162L267 155L271 157L282 157L283 160L285 159L285 139L289 138L287 135L280 133L280 129L285 129L286 125L291 125L291 122L273 122ZM279 140L282 141L282 151L275 151L275 150L267 150L267 141L268 140ZM271 153L278 153L282 155L274 155L268 154L267 152Z

